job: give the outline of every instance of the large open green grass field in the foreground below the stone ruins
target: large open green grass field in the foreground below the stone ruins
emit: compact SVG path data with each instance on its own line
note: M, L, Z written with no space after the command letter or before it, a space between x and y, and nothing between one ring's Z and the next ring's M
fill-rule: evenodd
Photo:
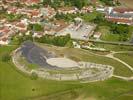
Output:
M11 61L2 62L2 54L14 48L0 47L0 100L133 100L133 82L116 78L94 83L32 80Z

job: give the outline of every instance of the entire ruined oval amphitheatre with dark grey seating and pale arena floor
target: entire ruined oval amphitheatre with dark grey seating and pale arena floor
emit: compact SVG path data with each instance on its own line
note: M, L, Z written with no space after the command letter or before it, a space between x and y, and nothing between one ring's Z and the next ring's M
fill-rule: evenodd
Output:
M13 52L13 63L25 73L50 80L94 82L112 77L112 66L82 61L72 57L73 52L65 53L63 47L58 48L26 41ZM35 68L29 68L31 64Z

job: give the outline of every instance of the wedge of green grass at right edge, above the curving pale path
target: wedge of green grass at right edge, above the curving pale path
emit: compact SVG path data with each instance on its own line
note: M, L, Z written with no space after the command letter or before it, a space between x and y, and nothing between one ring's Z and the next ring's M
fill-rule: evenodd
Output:
M133 67L133 53L117 53L114 56Z

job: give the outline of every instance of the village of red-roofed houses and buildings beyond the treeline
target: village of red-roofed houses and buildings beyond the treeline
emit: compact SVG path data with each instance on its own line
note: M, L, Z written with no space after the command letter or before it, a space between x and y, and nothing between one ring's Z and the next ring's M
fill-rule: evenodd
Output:
M76 17L73 22L57 20L56 14L86 14L100 12L105 14L108 21L117 24L133 25L133 9L120 7L104 7L98 5L93 7L88 5L82 9L77 7L59 7L54 9L51 6L42 6L39 9L28 7L42 2L42 0L19 0L20 5L17 7L11 4L17 3L18 0L4 0L0 2L0 11L4 11L7 17L0 20L0 44L6 45L11 42L11 37L19 34L29 35L32 32L33 37L42 37L45 34L54 36L63 36L70 34L72 39L88 40L90 37L99 39L101 32L95 32L96 24L87 23L82 18ZM94 0L95 3L97 3ZM21 17L22 16L22 17ZM16 19L13 19L16 18ZM13 20L12 20L13 19ZM29 25L35 25L38 29L29 30Z

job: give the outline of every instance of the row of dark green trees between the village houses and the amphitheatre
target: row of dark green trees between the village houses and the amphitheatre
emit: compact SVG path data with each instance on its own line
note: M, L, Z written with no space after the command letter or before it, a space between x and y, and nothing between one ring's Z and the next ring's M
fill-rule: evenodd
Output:
M39 43L46 43L46 44L51 44L51 45L55 45L55 46L61 46L61 47L73 47L73 43L71 40L70 35L66 35L66 36L53 36L53 35L44 35L40 38L38 37L33 37L32 34L30 35L25 35L23 34L23 36L19 36L16 35L14 37L12 37L12 42L14 42L15 44L21 44L24 41L30 40L30 41L34 41L34 42L39 42Z

